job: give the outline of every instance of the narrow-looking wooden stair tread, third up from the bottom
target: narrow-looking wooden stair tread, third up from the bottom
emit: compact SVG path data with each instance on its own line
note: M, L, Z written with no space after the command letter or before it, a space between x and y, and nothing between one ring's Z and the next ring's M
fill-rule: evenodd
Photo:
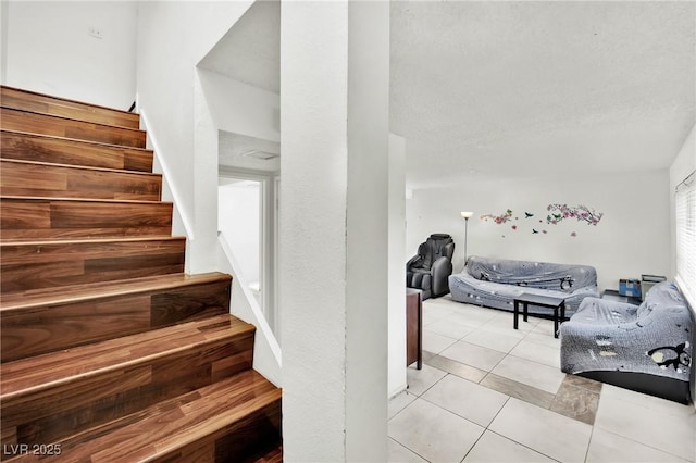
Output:
M190 285L229 280L229 275L211 272L197 275L184 273L146 276L116 281L100 281L85 285L34 289L0 296L0 314L9 314L13 310L29 309L42 305L60 305L98 298L113 298L156 289L182 288Z

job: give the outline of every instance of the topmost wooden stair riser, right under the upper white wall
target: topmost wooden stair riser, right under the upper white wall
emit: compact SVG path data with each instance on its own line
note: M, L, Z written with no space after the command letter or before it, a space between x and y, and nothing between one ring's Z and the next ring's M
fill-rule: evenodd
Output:
M12 87L0 87L0 102L3 107L15 110L77 118L119 127L140 127L140 116L136 113L50 97Z

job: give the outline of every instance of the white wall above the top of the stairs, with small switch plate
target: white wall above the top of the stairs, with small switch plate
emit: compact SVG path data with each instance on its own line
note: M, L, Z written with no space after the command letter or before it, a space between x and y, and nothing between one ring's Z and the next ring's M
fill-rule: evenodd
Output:
M138 2L4 3L3 84L121 110L130 107ZM101 38L90 36L90 27Z

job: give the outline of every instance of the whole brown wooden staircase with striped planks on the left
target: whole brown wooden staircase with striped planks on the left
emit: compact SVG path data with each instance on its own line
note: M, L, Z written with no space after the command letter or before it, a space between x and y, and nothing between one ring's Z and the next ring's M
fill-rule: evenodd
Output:
M138 115L0 89L0 460L281 462L281 390L232 277L184 274Z

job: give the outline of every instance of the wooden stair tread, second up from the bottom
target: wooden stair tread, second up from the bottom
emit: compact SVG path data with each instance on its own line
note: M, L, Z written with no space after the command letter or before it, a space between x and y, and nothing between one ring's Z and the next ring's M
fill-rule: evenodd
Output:
M174 351L192 349L200 343L253 334L254 330L253 325L225 314L8 362L0 365L0 399L4 402Z

